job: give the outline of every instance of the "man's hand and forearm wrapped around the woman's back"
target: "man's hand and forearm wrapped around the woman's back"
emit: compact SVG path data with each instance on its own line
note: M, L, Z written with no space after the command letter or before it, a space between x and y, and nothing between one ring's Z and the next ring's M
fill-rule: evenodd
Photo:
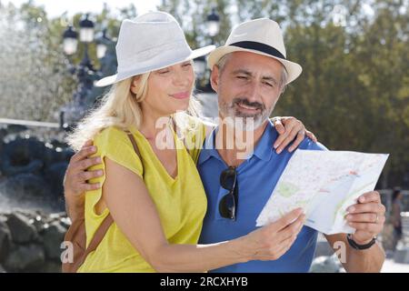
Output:
M87 141L81 150L71 157L65 171L64 196L65 209L71 221L84 218L85 191L100 188L99 183L88 183L89 179L103 176L104 171L87 171L90 166L101 164L101 157L90 157L96 153L92 141Z

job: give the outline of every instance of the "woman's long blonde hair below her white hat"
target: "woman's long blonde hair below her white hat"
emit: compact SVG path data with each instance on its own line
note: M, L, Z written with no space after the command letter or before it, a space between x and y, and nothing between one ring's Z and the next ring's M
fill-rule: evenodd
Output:
M112 86L110 91L104 95L99 106L91 111L85 118L75 126L73 132L67 136L66 141L75 151L81 149L87 140L93 139L103 129L115 126L126 130L131 126L139 128L142 122L142 110L140 102L146 97L148 78L151 72L133 76L120 81ZM131 85L134 78L140 79L138 91L132 93ZM200 104L191 96L189 107L186 112L175 113L172 117L175 124L183 128L182 132L189 131L189 123L185 114L200 115Z

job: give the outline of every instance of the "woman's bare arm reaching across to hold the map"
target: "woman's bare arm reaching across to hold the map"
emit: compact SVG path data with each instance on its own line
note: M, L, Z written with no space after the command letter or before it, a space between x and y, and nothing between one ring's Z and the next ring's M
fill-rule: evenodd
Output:
M293 244L304 216L293 211L248 236L213 245L168 244L143 180L105 157L103 203L135 249L159 272L205 272L251 259L276 259Z

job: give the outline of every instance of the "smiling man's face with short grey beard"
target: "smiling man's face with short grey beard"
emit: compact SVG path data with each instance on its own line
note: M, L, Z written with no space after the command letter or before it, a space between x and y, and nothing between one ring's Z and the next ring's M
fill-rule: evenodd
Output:
M212 86L221 118L243 118L243 130L254 130L271 115L281 93L283 65L272 57L234 52L220 70L214 65ZM237 125L237 124L236 124Z

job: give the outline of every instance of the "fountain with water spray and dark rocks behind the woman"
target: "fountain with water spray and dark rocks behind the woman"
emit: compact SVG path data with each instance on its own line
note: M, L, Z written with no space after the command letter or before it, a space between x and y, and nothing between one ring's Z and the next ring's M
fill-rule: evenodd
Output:
M63 179L74 152L60 125L85 115L102 94L94 80L116 67L111 42L102 73L79 65L73 78L41 17L29 21L0 5L0 273L61 270L70 225Z

